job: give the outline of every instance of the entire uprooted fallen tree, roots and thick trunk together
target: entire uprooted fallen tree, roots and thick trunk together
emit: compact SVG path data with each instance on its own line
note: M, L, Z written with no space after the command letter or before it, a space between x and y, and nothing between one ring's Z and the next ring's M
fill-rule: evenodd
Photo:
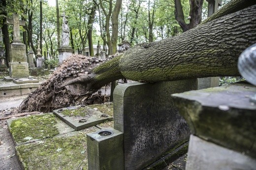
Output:
M153 83L210 76L239 76L239 55L256 43L255 16L254 5L176 37L138 44L123 56L101 64L90 62L90 58L82 56L70 57L46 83L23 101L20 109L50 111L83 104L101 86L121 78Z

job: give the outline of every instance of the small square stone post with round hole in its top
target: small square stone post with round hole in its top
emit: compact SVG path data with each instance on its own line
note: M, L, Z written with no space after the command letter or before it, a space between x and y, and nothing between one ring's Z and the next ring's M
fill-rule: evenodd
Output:
M89 170L124 170L123 133L105 128L87 134Z

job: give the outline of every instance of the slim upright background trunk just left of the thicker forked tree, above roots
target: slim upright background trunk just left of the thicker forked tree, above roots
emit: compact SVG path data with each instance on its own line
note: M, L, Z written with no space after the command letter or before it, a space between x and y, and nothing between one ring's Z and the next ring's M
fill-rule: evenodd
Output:
M89 14L89 21L88 21L88 43L89 43L90 56L94 56L93 24L94 24L94 20L95 20L96 8L97 8L97 6L94 2L91 13Z

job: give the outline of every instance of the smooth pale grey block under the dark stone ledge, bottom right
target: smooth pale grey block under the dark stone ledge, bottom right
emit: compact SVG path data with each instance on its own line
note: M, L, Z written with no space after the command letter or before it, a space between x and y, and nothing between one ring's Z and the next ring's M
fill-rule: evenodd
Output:
M186 170L255 170L256 159L191 135Z

